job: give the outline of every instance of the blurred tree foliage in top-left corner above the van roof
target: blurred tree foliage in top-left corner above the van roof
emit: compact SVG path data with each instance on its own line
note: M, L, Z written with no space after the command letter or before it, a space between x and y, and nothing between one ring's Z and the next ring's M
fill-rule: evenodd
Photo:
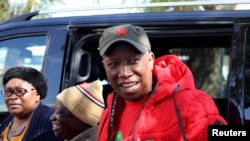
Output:
M11 17L36 11L39 9L47 9L48 6L63 3L62 0L23 0L15 2L14 0L0 0L0 22Z

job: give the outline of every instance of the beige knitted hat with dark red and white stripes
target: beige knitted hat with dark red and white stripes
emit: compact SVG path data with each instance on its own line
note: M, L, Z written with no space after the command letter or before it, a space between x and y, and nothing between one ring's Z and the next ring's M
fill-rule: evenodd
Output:
M64 89L56 96L76 118L89 125L97 125L104 109L100 80Z

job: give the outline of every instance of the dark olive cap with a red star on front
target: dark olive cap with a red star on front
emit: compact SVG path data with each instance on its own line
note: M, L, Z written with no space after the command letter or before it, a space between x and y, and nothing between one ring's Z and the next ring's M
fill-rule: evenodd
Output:
M133 45L141 53L151 51L148 36L143 28L131 24L106 28L99 40L99 51L103 55L115 42L125 41Z

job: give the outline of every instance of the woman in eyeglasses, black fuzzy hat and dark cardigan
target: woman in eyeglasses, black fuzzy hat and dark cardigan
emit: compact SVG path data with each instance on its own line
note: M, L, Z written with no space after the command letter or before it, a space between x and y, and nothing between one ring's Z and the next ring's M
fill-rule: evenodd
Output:
M31 67L13 67L3 76L1 94L10 113L1 123L1 141L63 141L52 130L53 108L43 105L47 80Z

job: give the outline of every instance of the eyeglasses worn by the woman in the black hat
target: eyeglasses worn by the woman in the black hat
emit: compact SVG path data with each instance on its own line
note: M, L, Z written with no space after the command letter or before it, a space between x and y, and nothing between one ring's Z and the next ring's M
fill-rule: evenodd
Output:
M31 89L30 91L33 91L33 90L36 90L36 89ZM29 91L24 88L16 88L15 90L12 90L12 89L1 90L2 95L5 97L10 97L12 94L15 94L16 96L21 97L28 92Z

